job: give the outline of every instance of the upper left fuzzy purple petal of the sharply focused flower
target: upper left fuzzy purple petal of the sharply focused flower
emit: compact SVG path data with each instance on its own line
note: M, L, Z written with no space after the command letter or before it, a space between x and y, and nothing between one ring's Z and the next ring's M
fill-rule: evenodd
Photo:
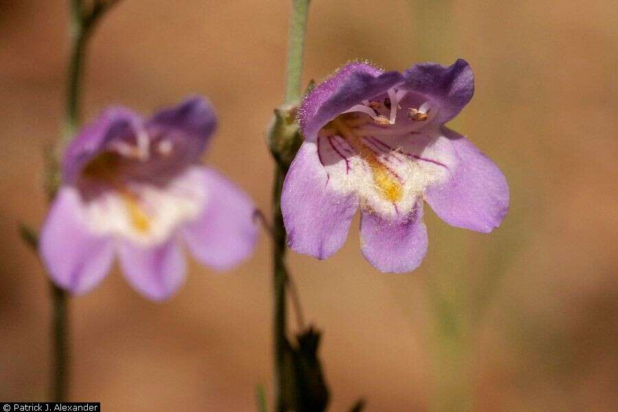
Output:
M314 141L325 124L348 108L403 82L404 77L398 71L384 72L363 62L342 67L303 100L298 117L305 139Z

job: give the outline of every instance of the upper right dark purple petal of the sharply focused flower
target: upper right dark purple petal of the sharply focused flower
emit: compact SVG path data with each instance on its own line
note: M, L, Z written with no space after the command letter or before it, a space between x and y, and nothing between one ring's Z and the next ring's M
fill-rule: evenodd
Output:
M444 124L461 111L474 94L474 74L464 59L453 65L420 63L404 71L406 82L401 89L426 95L437 102L435 123Z

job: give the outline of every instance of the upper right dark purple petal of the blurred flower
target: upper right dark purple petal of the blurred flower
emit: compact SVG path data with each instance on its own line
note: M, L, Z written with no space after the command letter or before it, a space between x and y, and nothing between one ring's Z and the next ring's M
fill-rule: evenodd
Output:
M165 108L146 122L151 134L159 131L170 135L176 146L181 144L183 152L191 158L187 162L199 159L216 127L214 108L208 100L198 96Z

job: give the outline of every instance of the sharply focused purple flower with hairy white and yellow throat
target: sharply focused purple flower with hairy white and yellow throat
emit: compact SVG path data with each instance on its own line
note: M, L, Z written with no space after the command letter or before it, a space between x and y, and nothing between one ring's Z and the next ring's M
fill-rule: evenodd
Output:
M423 201L445 222L488 233L508 210L499 168L444 123L472 98L468 63L422 63L399 73L353 62L299 108L305 141L282 194L288 244L324 259L361 207L361 250L383 272L420 265Z

